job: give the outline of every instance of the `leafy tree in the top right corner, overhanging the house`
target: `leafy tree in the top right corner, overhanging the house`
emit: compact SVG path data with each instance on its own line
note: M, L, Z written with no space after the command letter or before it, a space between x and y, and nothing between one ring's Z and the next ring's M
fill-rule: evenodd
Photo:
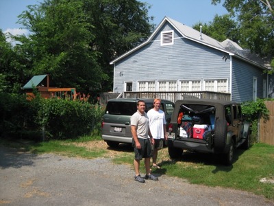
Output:
M221 3L221 0L212 0L212 3ZM260 54L262 58L273 58L274 1L224 0L223 6L231 18L236 18L238 21L240 45L251 49L251 52Z

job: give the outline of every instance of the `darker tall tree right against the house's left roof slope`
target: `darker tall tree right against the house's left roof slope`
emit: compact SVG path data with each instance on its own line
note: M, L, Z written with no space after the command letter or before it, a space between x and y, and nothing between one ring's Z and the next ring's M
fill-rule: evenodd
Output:
M111 90L113 80L113 66L110 61L124 54L136 45L145 41L154 25L149 21L150 7L146 3L136 0L87 0L84 10L88 22L95 35L90 47L101 53L99 63L110 77L110 81L103 85L104 90Z

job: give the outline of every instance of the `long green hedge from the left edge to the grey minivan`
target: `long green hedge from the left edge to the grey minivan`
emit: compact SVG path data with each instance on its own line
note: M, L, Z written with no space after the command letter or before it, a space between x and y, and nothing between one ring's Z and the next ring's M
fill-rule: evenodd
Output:
M0 93L1 137L73 139L100 135L104 107L83 101Z

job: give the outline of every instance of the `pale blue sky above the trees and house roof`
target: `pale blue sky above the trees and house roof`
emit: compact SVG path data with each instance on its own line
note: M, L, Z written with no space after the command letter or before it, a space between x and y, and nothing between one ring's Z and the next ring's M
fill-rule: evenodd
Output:
M0 29L11 34L27 34L20 30L22 25L16 24L18 15L27 10L27 5L34 5L43 0L0 0ZM154 16L156 25L168 16L175 21L192 27L195 23L208 23L216 14L223 15L227 11L221 4L212 5L211 0L139 0L151 5L149 16Z

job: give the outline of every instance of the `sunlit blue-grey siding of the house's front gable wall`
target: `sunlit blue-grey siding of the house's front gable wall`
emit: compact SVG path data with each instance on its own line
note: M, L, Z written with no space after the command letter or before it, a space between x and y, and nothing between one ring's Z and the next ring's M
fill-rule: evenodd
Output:
M169 24L163 27L163 30L171 29ZM133 82L133 91L136 91L137 82L140 80L203 82L214 77L224 78L229 82L229 60L223 60L223 52L183 38L178 32L175 32L173 45L161 46L160 35L154 39L148 45L116 62L115 92L123 92L125 82ZM120 73L123 73L123 76L120 76Z

